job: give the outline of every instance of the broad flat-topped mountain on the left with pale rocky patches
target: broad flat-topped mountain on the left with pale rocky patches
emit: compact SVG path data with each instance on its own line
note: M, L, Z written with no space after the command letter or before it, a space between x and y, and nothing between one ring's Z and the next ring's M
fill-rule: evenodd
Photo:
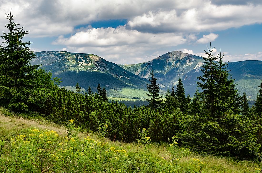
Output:
M111 97L125 98L129 96L127 91L144 90L148 83L147 79L93 54L42 51L36 53L36 59L31 64L41 64L41 68L51 71L53 77L61 78L61 85L69 89L73 89L78 82L81 88L87 90L90 86L96 92L100 83Z

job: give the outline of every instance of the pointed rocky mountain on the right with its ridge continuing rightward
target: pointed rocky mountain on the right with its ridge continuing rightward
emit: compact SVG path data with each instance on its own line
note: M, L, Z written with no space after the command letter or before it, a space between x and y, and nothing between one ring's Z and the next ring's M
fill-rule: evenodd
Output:
M204 60L200 56L172 51L148 62L119 66L146 79L150 78L149 74L154 70L162 90L176 85L181 78L185 93L192 96L197 86L196 77L202 74L200 68L203 64ZM228 69L231 70L232 78L236 79L239 94L245 92L249 99L255 100L262 80L262 61L229 62Z

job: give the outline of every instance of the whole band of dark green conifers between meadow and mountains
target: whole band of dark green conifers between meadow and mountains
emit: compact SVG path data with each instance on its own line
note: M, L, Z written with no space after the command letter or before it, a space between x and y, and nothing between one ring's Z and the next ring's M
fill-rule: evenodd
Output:
M108 102L105 88L97 93L89 88L79 94L59 89L59 79L30 65L35 58L23 27L7 14L8 33L0 36L0 104L15 112L42 113L56 123L74 119L77 125L97 131L100 123L108 124L107 137L135 141L138 129L146 128L152 141L168 142L174 135L181 145L203 154L256 158L262 144L262 83L254 106L249 109L247 96L239 96L234 79L227 70L223 55L214 55L208 47L202 75L198 77L193 99L185 96L182 80L176 89L168 89L163 101L159 84L151 72L148 106L134 108ZM200 90L201 89L201 92Z

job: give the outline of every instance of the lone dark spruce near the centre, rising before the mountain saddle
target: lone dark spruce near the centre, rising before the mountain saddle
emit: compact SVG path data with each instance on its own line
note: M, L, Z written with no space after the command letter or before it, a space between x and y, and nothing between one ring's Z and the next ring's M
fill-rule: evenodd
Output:
M151 97L151 99L146 99L149 102L149 107L151 108L159 108L163 102L162 96L159 94L159 84L156 84L156 78L154 75L154 71L150 73L151 79L149 81L151 84L146 84L149 94L147 95Z

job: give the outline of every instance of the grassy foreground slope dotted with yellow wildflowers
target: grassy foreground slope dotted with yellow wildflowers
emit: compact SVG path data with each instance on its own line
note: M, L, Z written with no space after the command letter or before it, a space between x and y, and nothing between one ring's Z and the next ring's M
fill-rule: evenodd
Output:
M68 135L68 131L72 133ZM142 140L138 147L137 143L114 142L99 134L76 131L73 123L60 126L44 118L25 119L0 107L0 172L246 173L260 168L251 161L184 154L182 148L175 148L173 155L179 159L172 160L166 143L147 145Z

